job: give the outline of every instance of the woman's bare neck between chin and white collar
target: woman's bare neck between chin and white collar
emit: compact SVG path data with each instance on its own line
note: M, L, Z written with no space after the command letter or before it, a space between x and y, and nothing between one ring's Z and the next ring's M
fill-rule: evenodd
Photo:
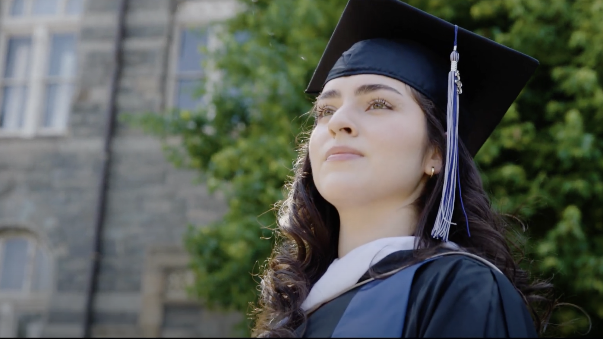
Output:
M339 258L376 239L411 236L418 221L415 207L405 201L374 201L362 206L337 208L337 211Z

